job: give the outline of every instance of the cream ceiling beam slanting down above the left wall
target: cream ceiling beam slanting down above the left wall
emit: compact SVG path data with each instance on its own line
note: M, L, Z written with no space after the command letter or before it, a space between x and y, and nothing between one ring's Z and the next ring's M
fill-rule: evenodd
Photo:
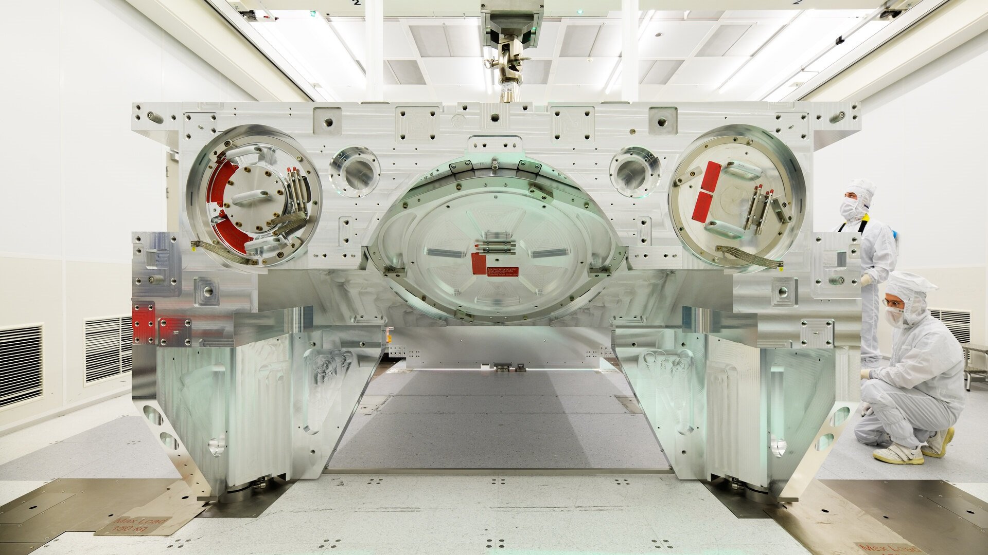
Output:
M127 0L166 33L259 101L311 100L204 0ZM223 2L225 4L225 2ZM228 4L225 8L232 11ZM235 13L235 12L234 12ZM236 16L239 17L239 16Z

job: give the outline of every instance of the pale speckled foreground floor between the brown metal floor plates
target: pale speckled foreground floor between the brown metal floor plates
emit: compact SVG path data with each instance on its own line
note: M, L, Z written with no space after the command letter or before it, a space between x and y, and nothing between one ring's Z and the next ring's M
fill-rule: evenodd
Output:
M326 475L259 518L196 518L168 538L68 532L48 545L63 555L178 545L182 555L807 553L775 520L736 518L699 483L656 475Z

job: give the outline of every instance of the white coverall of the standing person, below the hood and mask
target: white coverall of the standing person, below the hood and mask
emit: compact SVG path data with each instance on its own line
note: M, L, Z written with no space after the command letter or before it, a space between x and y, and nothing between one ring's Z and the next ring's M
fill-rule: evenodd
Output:
M831 231L858 233L862 220L849 221ZM878 283L888 279L895 270L897 256L892 228L870 219L862 232L862 273L871 277L871 282L862 287L862 366L877 367L881 362L878 352Z

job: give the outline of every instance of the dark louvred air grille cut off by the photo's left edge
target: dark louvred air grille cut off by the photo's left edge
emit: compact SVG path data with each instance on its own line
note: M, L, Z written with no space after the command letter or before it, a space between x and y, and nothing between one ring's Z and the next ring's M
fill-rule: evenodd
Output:
M0 330L0 407L41 397L41 326Z

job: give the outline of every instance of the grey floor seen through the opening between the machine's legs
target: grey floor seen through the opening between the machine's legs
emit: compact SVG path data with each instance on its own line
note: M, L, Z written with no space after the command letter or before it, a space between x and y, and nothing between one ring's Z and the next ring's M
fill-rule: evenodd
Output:
M623 375L415 370L375 378L334 468L668 468Z

